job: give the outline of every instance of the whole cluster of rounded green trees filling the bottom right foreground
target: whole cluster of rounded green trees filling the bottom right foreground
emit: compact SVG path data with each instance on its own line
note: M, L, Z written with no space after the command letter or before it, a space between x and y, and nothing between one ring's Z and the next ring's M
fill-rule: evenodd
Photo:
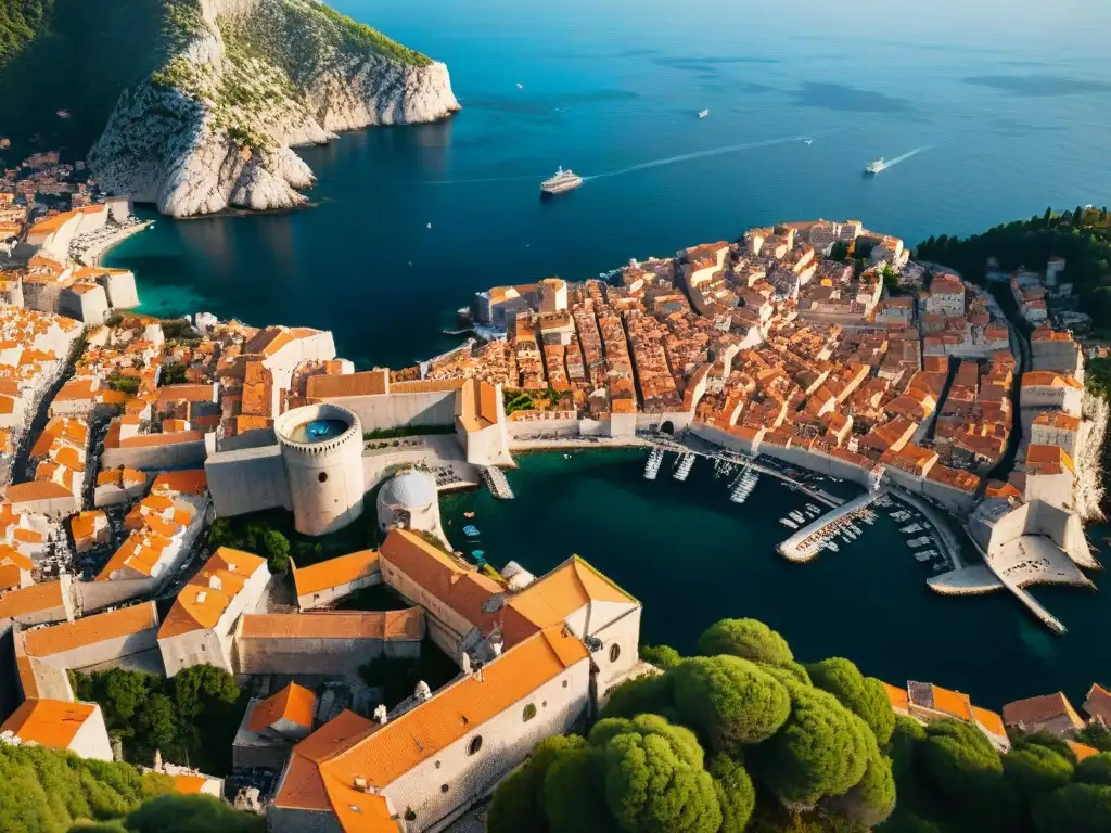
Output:
M584 736L542 742L494 793L490 833L1063 833L1111 830L1111 754L1000 755L971 724L897 717L849 660L801 665L760 622L614 691ZM1105 760L1104 760L1105 759Z

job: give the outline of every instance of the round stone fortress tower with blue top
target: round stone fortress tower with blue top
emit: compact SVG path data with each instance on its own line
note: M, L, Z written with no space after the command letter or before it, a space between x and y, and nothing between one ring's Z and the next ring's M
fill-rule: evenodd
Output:
M287 411L274 422L293 523L326 535L362 514L362 425L346 408L322 403Z

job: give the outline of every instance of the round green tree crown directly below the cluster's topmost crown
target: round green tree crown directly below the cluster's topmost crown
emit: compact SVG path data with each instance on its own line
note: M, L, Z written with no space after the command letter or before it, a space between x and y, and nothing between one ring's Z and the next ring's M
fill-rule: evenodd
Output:
M772 736L791 711L787 688L737 656L697 656L671 672L675 709L714 752Z

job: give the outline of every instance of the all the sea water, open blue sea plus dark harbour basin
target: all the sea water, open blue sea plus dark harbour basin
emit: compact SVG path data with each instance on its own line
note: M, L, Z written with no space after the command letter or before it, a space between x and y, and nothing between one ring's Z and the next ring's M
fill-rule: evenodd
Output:
M359 367L400 368L459 344L443 331L491 285L592 278L779 220L860 219L913 244L1111 202L1111 4L332 4L447 62L463 110L301 149L319 178L303 210L158 219L107 259L136 272L144 311L329 329ZM542 201L558 165L585 182ZM1111 683L1107 591L1037 591L1070 629L1054 638L1013 600L931 595L890 530L785 564L774 518L792 493L767 484L738 508L705 466L647 484L642 462L528 456L518 500L459 500L496 563L579 552L644 601L648 640L681 650L754 615L803 659L847 654L993 707Z

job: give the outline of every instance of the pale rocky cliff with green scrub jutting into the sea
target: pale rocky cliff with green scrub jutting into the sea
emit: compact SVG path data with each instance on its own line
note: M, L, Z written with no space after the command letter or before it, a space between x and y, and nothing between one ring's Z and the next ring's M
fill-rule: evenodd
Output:
M448 68L317 0L163 0L164 60L124 90L88 162L101 187L189 217L300 205L291 148L459 110Z

